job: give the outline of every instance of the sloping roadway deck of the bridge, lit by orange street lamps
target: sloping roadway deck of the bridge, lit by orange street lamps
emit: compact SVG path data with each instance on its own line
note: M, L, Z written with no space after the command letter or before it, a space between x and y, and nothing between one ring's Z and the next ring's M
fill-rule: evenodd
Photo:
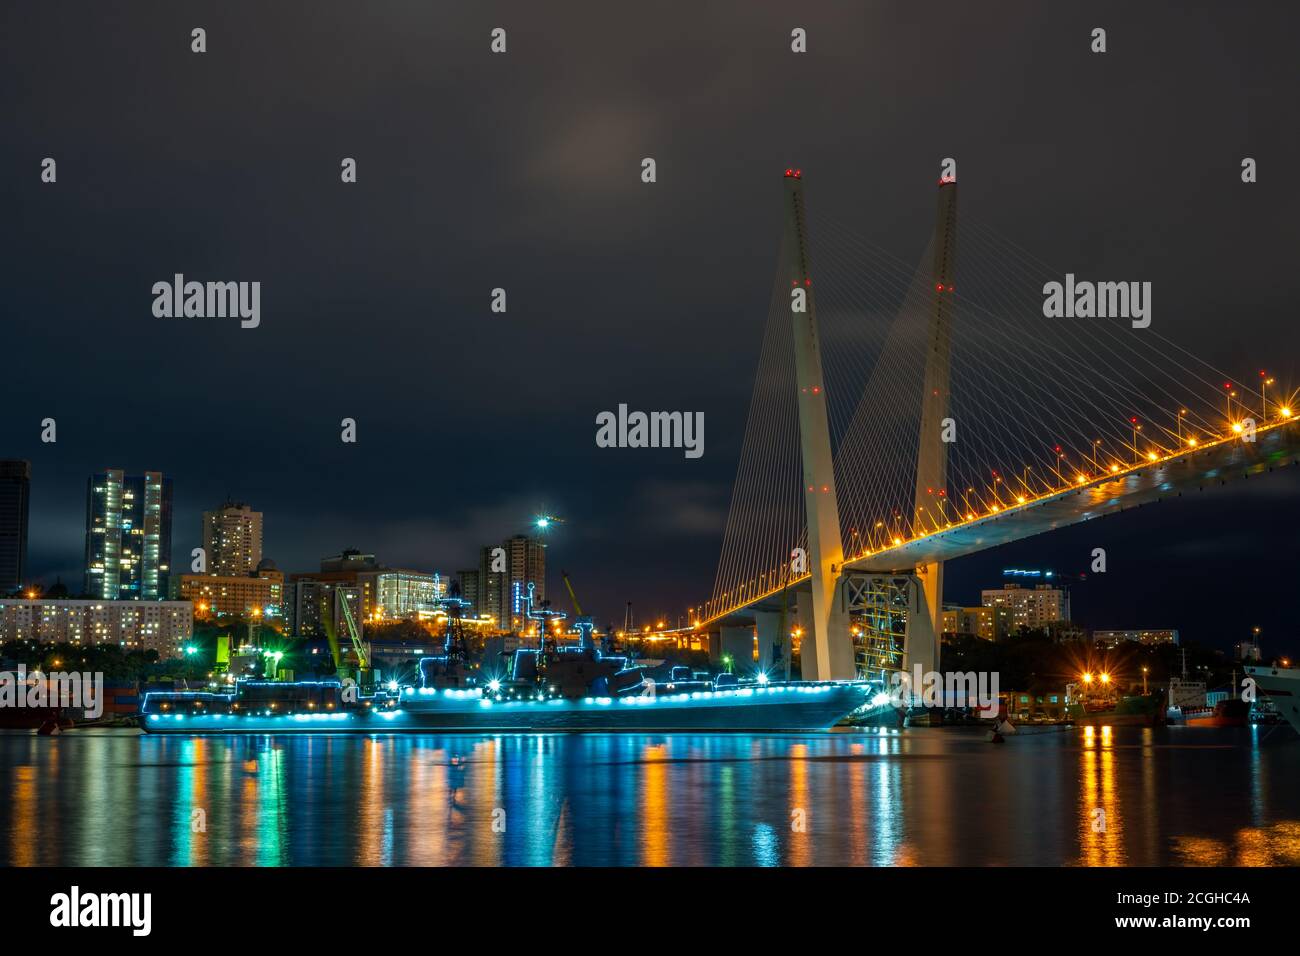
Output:
M953 524L915 537L894 548L850 558L850 571L905 574L916 564L952 561L976 551L1065 528L1124 509L1200 492L1228 481L1265 475L1275 468L1300 464L1300 420L1288 419L1261 427L1253 442L1238 437L1208 442L1179 455L1130 466L1117 475L1093 479L1023 505L1009 505L994 514ZM786 593L764 594L746 605L699 622L701 628L748 624L753 611L780 611L792 596L809 591L810 578L792 581Z

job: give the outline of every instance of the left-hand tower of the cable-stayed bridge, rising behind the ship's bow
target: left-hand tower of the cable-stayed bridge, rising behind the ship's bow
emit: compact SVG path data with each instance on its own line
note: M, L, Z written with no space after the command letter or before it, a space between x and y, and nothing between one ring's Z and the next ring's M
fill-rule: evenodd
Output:
M840 506L835 497L835 460L822 376L822 337L816 324L812 273L809 264L803 174L785 170L785 251L790 278L790 317L794 323L794 368L798 384L800 451L803 462L803 506L809 525L809 570L812 575L812 627L803 639L806 680L852 679L853 641L849 617L838 593L844 567Z

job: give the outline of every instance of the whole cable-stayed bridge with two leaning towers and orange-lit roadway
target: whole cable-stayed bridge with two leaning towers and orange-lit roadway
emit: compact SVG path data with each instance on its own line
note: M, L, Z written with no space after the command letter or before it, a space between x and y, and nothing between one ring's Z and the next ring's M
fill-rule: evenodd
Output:
M952 177L919 267L816 225L814 246L788 169L722 557L692 609L740 648L757 628L760 667L793 630L805 678L936 669L945 561L1300 460L1266 369L1236 378L1158 333L1149 285L1075 281L965 217L958 243ZM1070 317L1046 315L1050 282Z

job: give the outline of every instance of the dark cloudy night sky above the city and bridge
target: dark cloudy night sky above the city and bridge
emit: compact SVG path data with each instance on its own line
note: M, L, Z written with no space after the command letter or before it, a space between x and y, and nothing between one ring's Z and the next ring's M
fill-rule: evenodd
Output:
M0 457L32 462L31 571L79 589L87 475L161 470L178 567L228 496L290 572L347 546L455 572L546 510L555 597L564 567L602 622L675 617L712 583L792 164L814 230L833 208L918 261L958 157L963 211L1150 280L1164 336L1300 386L1295 13L850 7L6 3ZM261 326L153 317L177 272L260 281ZM703 411L705 457L595 447L620 402ZM1030 538L949 564L945 597L1105 546L1082 623L1300 650L1297 494L1287 472Z

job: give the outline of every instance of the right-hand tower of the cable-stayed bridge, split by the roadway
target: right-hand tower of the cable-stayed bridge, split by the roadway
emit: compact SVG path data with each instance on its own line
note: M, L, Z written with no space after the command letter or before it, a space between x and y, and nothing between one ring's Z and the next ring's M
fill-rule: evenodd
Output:
M916 496L914 533L942 527L952 518L945 497L948 485L948 444L942 440L952 394L953 346L953 258L957 242L957 179L939 181L939 212L935 219L935 258L930 287L930 325L926 330L926 381L920 398L920 444L916 451ZM904 670L915 665L923 671L939 670L939 635L942 631L944 563L916 566L920 593L911 602L904 646Z

